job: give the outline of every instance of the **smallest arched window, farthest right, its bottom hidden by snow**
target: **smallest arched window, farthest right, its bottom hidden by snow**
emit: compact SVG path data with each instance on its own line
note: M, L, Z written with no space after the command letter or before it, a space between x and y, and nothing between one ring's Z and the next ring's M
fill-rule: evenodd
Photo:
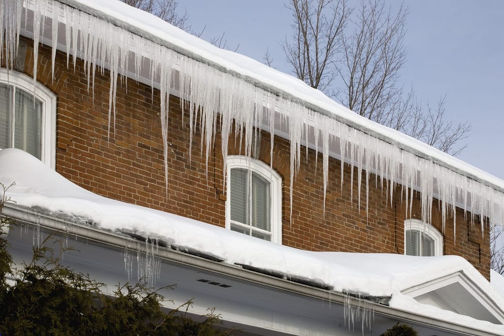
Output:
M404 222L404 254L434 256L443 254L443 235L432 225L416 219Z

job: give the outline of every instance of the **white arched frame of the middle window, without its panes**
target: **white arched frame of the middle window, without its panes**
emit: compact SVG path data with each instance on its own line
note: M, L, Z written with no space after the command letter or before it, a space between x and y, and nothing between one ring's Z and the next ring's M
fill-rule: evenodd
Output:
M271 192L271 241L273 243L282 243L282 178L271 169L271 167L262 161L248 159L241 155L230 155L226 161L226 229L231 229L231 169L241 168L253 171L265 180L270 182Z

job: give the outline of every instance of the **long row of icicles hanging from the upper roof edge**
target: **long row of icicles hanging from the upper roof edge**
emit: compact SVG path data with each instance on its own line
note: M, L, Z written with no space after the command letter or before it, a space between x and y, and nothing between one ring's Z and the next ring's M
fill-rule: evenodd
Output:
M431 160L421 158L398 146L377 139L334 118L315 112L290 97L282 96L278 90L267 91L246 79L216 69L207 63L197 61L172 49L155 43L148 38L115 26L104 19L53 0L37 0L30 11L25 11L23 2L0 0L0 61L12 68L16 57L21 29L32 29L34 36L33 73L37 73L38 45L44 30L50 30L51 39L44 40L52 46L51 66L58 43L64 45L67 62L73 63L77 57L84 61L88 87L94 90L96 71L110 72L109 131L115 122L115 95L118 77L124 74L139 79L148 64L151 86L159 85L161 93L161 126L164 144L165 180L168 183L168 97L177 91L181 97L183 113L188 113L191 124L191 141L195 124L201 122L206 163L215 138L216 129L221 130L222 155L225 164L228 141L233 123L237 127L235 135L243 137L245 154L250 157L253 147L253 132L245 129L278 129L285 123L290 141L290 200L296 172L302 161L301 145L309 142L317 144L322 153L324 195L329 178L329 157L343 157L351 163L351 179L354 171L359 177L357 192L360 205L362 180L365 181L366 212L370 173L387 186L388 198L392 201L395 185L402 186L406 211L411 212L414 190L420 191L421 214L424 222L430 222L433 198L439 199L442 209L443 230L446 220L452 216L455 225L457 205L464 211L471 211L471 220L479 215L499 220L504 218L504 194L494 188L463 176ZM32 13L33 11L33 13ZM31 19L33 14L33 19ZM55 20L54 20L55 19ZM59 24L65 24L65 40L58 41ZM33 24L33 27L31 25ZM134 56L134 57L133 57ZM173 64L176 64L175 66ZM174 69L176 68L176 69ZM34 82L36 78L34 78ZM154 90L154 89L153 89ZM188 104L183 104L182 100ZM188 108L186 108L188 106ZM203 106L203 109L198 109ZM335 103L335 109L338 108ZM218 118L217 116L220 116ZM280 120L280 121L279 121ZM219 124L217 124L219 122ZM271 159L273 162L274 137L271 137ZM343 155L342 155L343 153ZM225 167L224 167L224 171ZM341 161L341 184L343 185L343 160ZM351 185L353 190L353 185ZM353 191L352 191L353 192ZM390 194L390 195L389 195ZM325 196L324 196L325 197ZM325 198L324 198L325 204ZM325 206L324 206L325 207ZM292 209L292 207L291 207ZM481 226L483 230L483 225ZM454 230L455 232L455 230Z

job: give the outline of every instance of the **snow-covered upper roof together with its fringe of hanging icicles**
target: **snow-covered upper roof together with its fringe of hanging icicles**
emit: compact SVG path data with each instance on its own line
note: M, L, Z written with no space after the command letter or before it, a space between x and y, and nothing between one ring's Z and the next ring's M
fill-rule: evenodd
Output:
M55 48L59 48L86 63L103 66L111 71L113 113L119 74L150 82L159 87L161 97L176 91L191 103L188 112L192 120L197 119L195 106L204 107L201 120L204 120L202 132L207 157L219 114L224 162L233 120L243 129L259 126L279 131L290 140L291 190L296 167L302 159L299 147L311 144L323 153L325 181L330 174L329 156L343 157L357 168L358 174L367 177L374 171L382 178L400 183L406 190L420 190L425 210L422 214L426 217L423 219L427 222L433 197L447 208L442 212L443 223L447 214L455 214L452 205L470 210L473 216L481 215L481 220L490 218L493 223L500 223L504 219L504 181L361 117L292 76L219 49L148 13L119 1L37 0L34 5L26 2L30 11L25 16L22 7L25 2L1 1L5 10L0 15L0 25L2 32L5 29L7 60L15 56L17 37L22 33L34 38L35 60L37 42L43 40L53 47L53 63ZM25 18L28 22L21 24ZM43 24L43 29L38 23ZM78 36L89 43L77 43ZM36 64L37 61L35 74ZM88 70L87 75L93 83L94 71ZM168 100L162 99L165 146L167 104ZM245 136L247 153L253 142L252 133ZM167 156L165 148L165 165ZM356 191L360 194L361 188Z

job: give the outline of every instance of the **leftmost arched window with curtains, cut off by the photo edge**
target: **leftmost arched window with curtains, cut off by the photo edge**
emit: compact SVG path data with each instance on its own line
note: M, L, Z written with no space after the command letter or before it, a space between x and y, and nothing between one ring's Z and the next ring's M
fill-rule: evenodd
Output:
M18 148L55 166L56 97L33 79L0 69L0 149Z

